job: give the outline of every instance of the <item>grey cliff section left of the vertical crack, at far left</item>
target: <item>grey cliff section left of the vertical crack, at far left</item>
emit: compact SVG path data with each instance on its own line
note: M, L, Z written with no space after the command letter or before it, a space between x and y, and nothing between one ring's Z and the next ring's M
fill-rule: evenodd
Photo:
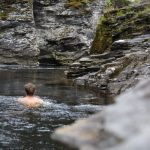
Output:
M0 8L0 63L37 65L32 2L2 0Z

